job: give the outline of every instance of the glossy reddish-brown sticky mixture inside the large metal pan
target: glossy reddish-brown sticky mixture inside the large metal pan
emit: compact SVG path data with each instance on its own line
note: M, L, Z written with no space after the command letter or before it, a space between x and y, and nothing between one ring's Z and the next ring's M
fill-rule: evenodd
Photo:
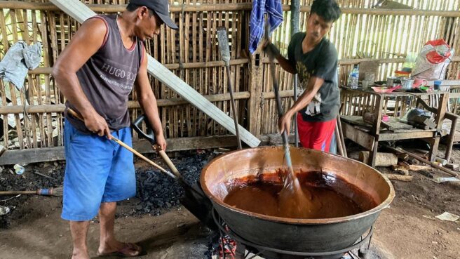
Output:
M317 171L296 173L308 206L293 208L290 199L282 197L286 171L265 173L256 177L232 180L224 202L244 211L281 218L339 218L368 211L377 206L370 195L332 173ZM285 195L285 193L283 193ZM294 193L293 193L294 195ZM308 208L307 208L308 207Z

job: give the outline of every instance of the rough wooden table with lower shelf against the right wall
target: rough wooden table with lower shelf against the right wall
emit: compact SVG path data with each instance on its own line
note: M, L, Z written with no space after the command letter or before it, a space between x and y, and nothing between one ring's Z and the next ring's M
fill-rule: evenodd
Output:
M429 159L434 161L436 153L438 152L438 146L440 142L440 132L442 130L442 122L445 118L446 109L447 109L447 100L449 99L448 91L433 91L431 93L406 93L402 91L393 91L393 93L376 93L370 89L351 89L348 87L341 87L342 93L348 91L351 93L359 94L369 94L374 95L376 98L375 107L374 107L374 123L372 128L366 129L359 126L356 116L355 118L343 117L342 128L344 131L344 138L349 138L353 142L358 143L359 145L365 147L370 151L370 159L368 164L370 166L375 166L375 158L377 157L377 149L379 141L391 141L391 140L407 140L407 139L423 139L426 140L431 145L431 150L429 153ZM423 130L420 128L407 128L400 129L398 131L388 131L381 129L381 117L384 107L384 99L388 97L417 97L417 98L426 98L429 95L438 95L439 102L438 107L435 108L433 113L435 114L435 124L436 128L430 130Z

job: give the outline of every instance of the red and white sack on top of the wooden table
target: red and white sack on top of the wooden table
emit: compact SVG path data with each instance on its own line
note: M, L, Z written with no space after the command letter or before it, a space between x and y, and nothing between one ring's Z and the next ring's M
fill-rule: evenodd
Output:
M447 65L453 56L454 50L444 39L426 42L415 60L412 77L426 80L444 79Z

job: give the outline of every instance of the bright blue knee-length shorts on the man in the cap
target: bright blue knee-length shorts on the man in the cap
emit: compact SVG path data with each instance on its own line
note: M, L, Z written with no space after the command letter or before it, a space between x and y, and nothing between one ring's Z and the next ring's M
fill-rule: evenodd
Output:
M131 145L130 128L111 133ZM102 202L121 201L136 194L133 153L105 136L84 134L67 119L64 128L65 176L61 217L86 221Z

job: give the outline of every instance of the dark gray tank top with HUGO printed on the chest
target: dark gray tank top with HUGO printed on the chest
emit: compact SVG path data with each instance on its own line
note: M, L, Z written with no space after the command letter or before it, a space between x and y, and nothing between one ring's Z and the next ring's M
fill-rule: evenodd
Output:
M142 41L135 38L133 46L125 48L116 15L97 15L90 19L103 20L107 33L100 49L76 72L76 76L96 112L107 121L111 130L117 131L130 125L128 96L144 58L144 47ZM75 107L68 101L65 105L65 117L72 126L90 133L82 121L67 114L68 107L76 110Z

